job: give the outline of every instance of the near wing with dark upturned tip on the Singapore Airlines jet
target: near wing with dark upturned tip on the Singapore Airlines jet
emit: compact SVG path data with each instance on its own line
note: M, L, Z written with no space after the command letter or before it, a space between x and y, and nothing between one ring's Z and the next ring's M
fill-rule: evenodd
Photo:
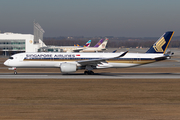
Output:
M97 65L97 64L100 64L101 62L105 62L106 60L123 57L124 55L126 55L126 53L128 53L128 51L120 54L117 57L113 57L113 58L100 58L100 59L80 60L80 61L77 61L77 63L81 64L82 66L84 66L84 65Z

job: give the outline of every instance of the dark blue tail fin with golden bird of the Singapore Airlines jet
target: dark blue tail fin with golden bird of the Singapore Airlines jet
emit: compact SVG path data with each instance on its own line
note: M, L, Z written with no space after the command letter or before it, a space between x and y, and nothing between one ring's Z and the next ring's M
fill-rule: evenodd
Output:
M164 33L146 53L165 53L174 31Z

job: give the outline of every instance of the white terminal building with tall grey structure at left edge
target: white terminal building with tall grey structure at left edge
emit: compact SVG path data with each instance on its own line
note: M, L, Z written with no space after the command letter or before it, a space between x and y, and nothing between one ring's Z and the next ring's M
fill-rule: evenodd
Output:
M0 33L0 55L9 56L19 52L37 52L43 43L43 31L35 24L34 35L19 33Z

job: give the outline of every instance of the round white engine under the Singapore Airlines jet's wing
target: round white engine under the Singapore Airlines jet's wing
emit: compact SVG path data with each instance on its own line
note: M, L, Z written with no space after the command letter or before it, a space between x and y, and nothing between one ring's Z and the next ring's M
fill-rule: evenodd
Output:
M77 66L76 64L73 63L61 63L60 70L62 73L72 73L72 72L76 72Z

